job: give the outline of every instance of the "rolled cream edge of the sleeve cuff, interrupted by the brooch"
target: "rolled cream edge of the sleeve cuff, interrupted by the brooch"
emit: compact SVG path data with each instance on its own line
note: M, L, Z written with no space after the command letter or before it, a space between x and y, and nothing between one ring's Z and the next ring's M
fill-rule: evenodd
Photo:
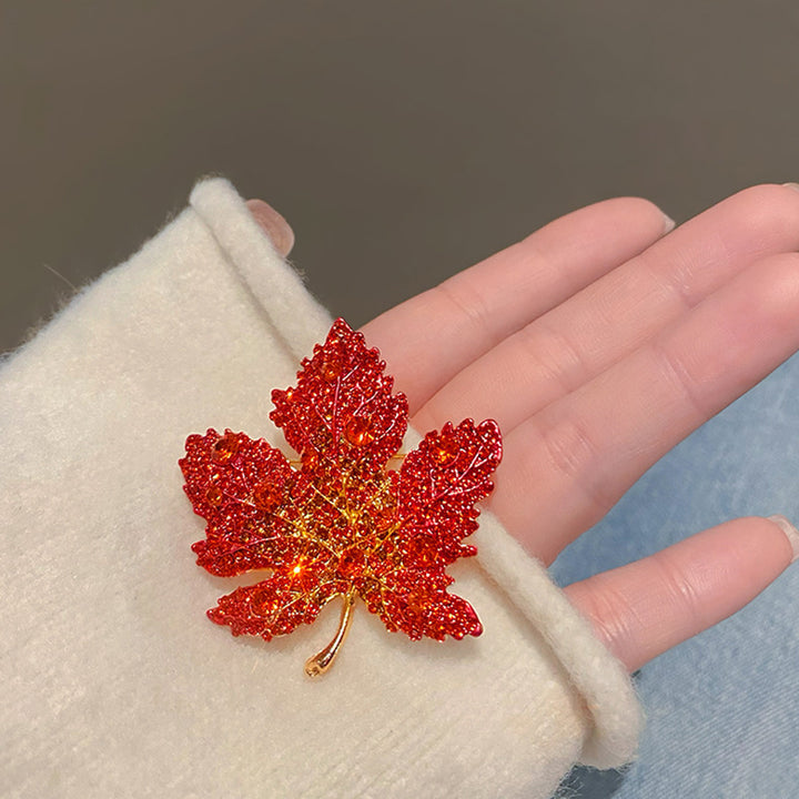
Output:
M286 345L299 363L310 354L314 342L324 341L330 316L320 312L310 294L297 291L299 279L293 271L274 262L277 269L264 269L262 247L270 246L269 240L227 181L201 182L190 202L236 265L274 328L285 334ZM409 431L404 451L409 452L418 441L418 433ZM479 567L495 584L494 589L520 614L524 624L544 638L585 704L590 720L579 761L597 768L628 762L635 755L641 712L621 664L596 639L542 564L524 552L493 514L483 513L481 529L472 540L479 547Z

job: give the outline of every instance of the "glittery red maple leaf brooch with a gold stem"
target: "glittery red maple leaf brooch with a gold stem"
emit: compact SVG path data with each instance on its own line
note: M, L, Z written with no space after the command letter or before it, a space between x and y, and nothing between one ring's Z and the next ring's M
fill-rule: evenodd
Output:
M446 567L477 553L462 542L493 488L496 422L447 423L401 455L407 400L392 395L394 380L361 333L336 320L301 366L295 387L272 392L270 414L296 461L230 429L186 439L184 488L208 522L192 546L198 564L221 577L271 570L220 598L209 617L234 636L271 640L342 596L336 635L305 664L312 677L333 663L357 596L413 640L478 636L477 614L447 591Z

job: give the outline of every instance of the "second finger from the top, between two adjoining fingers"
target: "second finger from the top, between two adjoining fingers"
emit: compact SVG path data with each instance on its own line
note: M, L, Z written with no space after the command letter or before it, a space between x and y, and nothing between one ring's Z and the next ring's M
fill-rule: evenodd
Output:
M508 433L636 350L757 257L799 250L799 192L754 186L680 225L469 364L417 413L419 429L494 418Z

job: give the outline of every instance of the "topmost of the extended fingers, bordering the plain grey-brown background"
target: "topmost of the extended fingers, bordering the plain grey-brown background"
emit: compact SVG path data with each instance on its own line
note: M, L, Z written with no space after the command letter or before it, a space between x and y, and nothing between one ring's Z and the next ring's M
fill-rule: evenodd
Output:
M645 250L674 226L665 220L637 198L589 205L387 311L363 332L414 413L505 336Z

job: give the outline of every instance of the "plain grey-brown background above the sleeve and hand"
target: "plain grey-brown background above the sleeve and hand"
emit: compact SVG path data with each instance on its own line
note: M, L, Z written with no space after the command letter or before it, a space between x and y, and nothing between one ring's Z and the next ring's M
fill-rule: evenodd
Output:
M0 351L206 173L361 324L615 194L799 180L799 3L0 3Z

